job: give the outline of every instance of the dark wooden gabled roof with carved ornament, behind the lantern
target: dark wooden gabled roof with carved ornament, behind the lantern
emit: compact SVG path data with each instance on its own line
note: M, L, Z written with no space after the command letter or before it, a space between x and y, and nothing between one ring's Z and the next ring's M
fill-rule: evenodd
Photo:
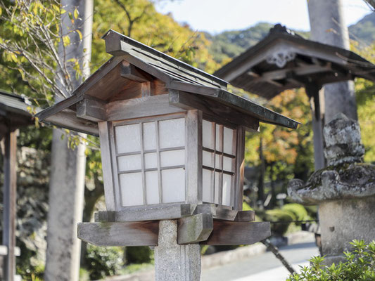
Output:
M286 89L346 81L375 81L375 65L352 51L303 39L275 25L267 37L214 73L267 99Z

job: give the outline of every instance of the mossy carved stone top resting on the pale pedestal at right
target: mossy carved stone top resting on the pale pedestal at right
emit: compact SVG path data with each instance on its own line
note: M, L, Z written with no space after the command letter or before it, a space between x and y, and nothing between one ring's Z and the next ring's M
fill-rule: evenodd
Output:
M358 122L339 114L324 126L328 165L303 182L288 183L288 195L295 202L318 204L327 200L375 196L375 165L364 164L364 147Z

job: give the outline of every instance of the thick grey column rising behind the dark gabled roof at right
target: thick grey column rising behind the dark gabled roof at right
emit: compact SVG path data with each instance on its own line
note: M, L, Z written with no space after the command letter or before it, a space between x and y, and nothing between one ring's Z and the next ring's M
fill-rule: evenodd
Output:
M341 0L309 0L311 39L323 44L349 49L348 27L343 19ZM354 83L345 81L324 86L324 123L342 112L350 119L357 120Z

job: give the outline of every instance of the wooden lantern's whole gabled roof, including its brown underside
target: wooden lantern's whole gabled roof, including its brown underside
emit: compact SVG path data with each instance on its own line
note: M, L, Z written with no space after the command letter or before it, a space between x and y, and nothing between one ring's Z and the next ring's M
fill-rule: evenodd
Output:
M39 112L37 116L41 121L98 135L97 122L110 120L111 110L120 110L125 100L131 105L130 100L145 98L146 102L147 96L165 96L172 107L189 103L244 126L248 119L292 129L298 126L292 119L230 93L226 81L134 39L113 30L109 30L103 39L107 53L113 58L91 74L70 98ZM152 106L157 110L157 104ZM139 107L134 104L129 108L136 110ZM170 112L160 110L160 114L165 113Z

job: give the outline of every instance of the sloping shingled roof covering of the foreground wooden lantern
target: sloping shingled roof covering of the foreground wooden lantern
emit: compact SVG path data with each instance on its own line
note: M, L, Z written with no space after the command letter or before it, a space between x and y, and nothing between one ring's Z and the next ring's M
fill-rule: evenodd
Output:
M39 112L38 117L45 120L56 113L70 115L71 129L80 127L80 131L97 134L97 125L94 121L80 120L75 118L75 105L84 99L84 96L91 96L108 103L115 100L118 94L116 91L125 89L129 80L149 81L158 79L165 87L165 93L170 90L183 91L193 96L201 96L215 103L220 103L248 115L251 118L259 119L260 122L277 124L295 129L298 122L284 117L283 115L268 110L251 100L236 96L227 91L227 82L211 74L198 70L180 60L172 58L165 53L141 44L134 39L126 37L118 32L109 30L103 39L106 41L106 51L113 55L108 62L102 65L94 74L84 81L73 93L60 103ZM129 68L130 67L130 68ZM133 68L132 68L133 67ZM138 73L132 76L129 69ZM115 76L126 77L127 79L116 80ZM144 77L144 79L142 78ZM125 94L125 90L121 90ZM56 123L57 122L57 123ZM58 124L58 119L53 121ZM66 127L66 125L65 125ZM86 129L82 130L85 127Z

